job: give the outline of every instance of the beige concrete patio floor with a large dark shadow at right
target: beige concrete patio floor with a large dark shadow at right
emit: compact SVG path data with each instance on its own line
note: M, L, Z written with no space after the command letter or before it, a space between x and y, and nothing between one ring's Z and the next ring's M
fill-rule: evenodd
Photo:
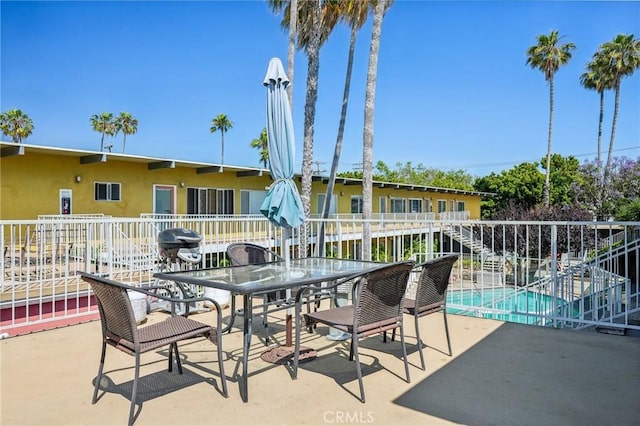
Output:
M164 316L153 313L148 323ZM194 318L207 321L212 315ZM282 315L270 319L281 342ZM442 316L422 319L429 345L426 371L418 367L413 322L406 321L411 383L404 380L398 341L361 341L365 404L358 399L348 343L327 340L323 327L303 333L303 344L319 356L301 366L295 381L287 366L260 358L265 346L254 336L249 401L243 403L237 380L242 353L238 320L223 337L229 397L220 394L210 342L181 344L182 376L175 369L166 372L166 350L148 353L142 358L136 424L640 424L640 338L458 315L449 319L453 357L445 354ZM259 323L256 318L254 324ZM133 358L107 349L108 387L92 405L99 356L99 321L1 340L0 424L126 424Z

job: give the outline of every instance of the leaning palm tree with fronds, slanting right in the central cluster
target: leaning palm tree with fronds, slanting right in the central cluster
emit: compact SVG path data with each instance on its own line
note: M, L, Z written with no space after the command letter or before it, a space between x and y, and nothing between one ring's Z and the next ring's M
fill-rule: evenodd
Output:
M347 73L344 82L344 93L342 96L342 110L340 111L340 123L338 124L338 135L336 137L336 145L333 151L333 161L331 162L331 171L329 172L329 182L327 183L327 191L322 206L322 218L329 217L331 209L331 199L333 189L335 187L336 174L338 172L338 164L340 163L340 154L342 152L342 140L344 136L344 127L347 120L347 107L349 105L349 91L351 89L351 74L353 70L353 57L356 45L356 35L358 31L367 21L369 11L372 9L372 3L362 0L347 0L335 4L335 13L341 21L346 22L351 27L351 37L349 40L349 54L347 59ZM324 222L320 224L318 232L318 248L319 254L324 255Z

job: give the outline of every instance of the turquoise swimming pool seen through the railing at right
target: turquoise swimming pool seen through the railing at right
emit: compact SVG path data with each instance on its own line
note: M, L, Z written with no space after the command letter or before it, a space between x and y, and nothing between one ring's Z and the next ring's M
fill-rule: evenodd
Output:
M546 294L514 288L453 290L447 292L447 313L521 324L544 323L566 302ZM576 313L576 312L574 312Z

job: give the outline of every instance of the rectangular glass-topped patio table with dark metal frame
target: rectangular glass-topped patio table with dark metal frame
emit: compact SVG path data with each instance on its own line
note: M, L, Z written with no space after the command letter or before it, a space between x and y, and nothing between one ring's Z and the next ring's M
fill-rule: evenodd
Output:
M287 290L318 285L322 282L334 281L380 266L381 264L378 262L308 257L291 259L288 262L281 261L257 265L158 272L154 274L154 277L161 280L228 290L232 294L241 294L243 296L244 342L242 348L242 374L239 385L242 400L247 402L249 399L247 377L249 348L251 346L252 336L253 315L251 312L253 312L253 295L274 290Z

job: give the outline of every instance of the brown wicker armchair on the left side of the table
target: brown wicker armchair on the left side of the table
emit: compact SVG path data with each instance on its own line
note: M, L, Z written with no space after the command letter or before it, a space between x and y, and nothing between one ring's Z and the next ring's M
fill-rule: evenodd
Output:
M102 323L102 354L100 356L100 366L96 377L95 389L93 392L92 404L98 400L98 389L102 379L105 353L107 345L119 349L135 357L135 372L133 379L133 390L131 392L131 407L129 409L129 422L133 424L135 417L136 393L140 376L140 355L169 345L169 372L173 368L173 355L175 354L178 372L182 374L182 364L178 353L178 342L196 337L206 337L217 346L218 365L220 368L220 380L222 394L227 397L227 381L222 363L222 339L216 330L222 322L220 306L212 299L206 300L212 303L217 309L217 320L215 326L195 321L185 316L170 316L166 320L154 323L145 327L138 327L135 313L129 300L127 291L138 291L153 297L164 298L170 302L196 302L205 298L197 299L171 299L156 294L153 291L131 287L120 282L112 281L103 277L80 272L82 279L87 281L93 290L93 294L98 302L100 311L100 321Z

